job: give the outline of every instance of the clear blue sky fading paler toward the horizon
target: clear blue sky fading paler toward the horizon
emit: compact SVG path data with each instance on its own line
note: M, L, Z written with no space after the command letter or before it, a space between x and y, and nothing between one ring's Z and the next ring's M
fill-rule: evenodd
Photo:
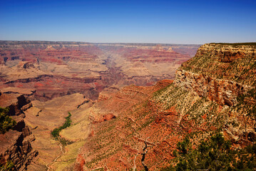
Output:
M0 40L256 41L256 0L0 0Z

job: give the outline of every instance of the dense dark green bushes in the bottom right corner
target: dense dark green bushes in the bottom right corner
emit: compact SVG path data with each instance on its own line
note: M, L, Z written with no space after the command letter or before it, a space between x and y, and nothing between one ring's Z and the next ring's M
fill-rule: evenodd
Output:
M231 142L221 133L215 133L208 140L192 148L189 138L177 144L178 151L173 151L174 165L168 170L255 170L256 145L249 145L242 150L232 150Z

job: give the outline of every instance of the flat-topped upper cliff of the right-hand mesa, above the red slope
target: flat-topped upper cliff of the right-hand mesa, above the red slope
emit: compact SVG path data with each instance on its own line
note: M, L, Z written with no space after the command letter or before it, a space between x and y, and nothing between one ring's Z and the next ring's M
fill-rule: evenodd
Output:
M235 105L238 95L252 89L256 76L255 47L205 44L193 60L176 71L175 85L220 105Z

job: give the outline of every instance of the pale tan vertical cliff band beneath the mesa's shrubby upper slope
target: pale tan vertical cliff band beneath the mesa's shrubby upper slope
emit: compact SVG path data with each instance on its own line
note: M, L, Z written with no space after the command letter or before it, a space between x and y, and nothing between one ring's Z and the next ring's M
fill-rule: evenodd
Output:
M195 91L201 97L208 98L220 105L230 106L237 104L238 95L245 94L251 89L250 86L235 81L211 78L202 73L183 70L176 71L175 85Z

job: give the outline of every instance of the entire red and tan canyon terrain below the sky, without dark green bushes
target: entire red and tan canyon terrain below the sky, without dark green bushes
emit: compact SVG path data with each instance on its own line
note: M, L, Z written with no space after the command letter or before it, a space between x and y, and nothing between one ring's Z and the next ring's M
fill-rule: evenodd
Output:
M143 170L147 140L144 163L160 170L185 135L197 145L220 129L234 148L255 142L255 43L205 44L190 60L194 46L67 44L1 46L0 106L16 106L9 115L23 124L1 134L1 164L13 160L17 170ZM174 81L163 80L174 78L165 72L176 69ZM59 133L61 144L51 131L68 112L72 123Z

